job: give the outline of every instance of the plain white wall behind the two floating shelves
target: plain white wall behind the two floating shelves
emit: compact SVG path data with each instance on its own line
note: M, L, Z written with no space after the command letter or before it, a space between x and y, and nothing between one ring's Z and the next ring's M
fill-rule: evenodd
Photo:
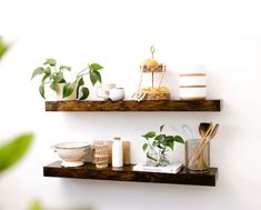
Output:
M91 204L108 209L261 209L261 33L258 1L7 1L0 26L14 41L0 63L1 141L26 130L36 141L23 161L0 178L0 209L23 210L33 198L47 207ZM8 34L23 36L11 37ZM149 56L168 66L165 84L178 97L184 66L205 64L209 98L223 99L219 113L47 113L30 81L32 70L54 57L77 72L87 62L106 67L104 82L128 97L138 84L139 64ZM93 96L92 96L93 99ZM168 124L221 123L211 148L219 168L215 188L127 183L42 177L58 159L50 146L121 136L132 142L132 160L142 159L141 134ZM182 149L177 158L182 159Z

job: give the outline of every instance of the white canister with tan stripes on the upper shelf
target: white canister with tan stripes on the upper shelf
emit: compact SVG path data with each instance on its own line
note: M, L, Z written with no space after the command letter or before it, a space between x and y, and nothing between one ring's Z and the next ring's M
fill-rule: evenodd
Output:
M179 94L181 100L204 100L207 98L207 74L180 73Z

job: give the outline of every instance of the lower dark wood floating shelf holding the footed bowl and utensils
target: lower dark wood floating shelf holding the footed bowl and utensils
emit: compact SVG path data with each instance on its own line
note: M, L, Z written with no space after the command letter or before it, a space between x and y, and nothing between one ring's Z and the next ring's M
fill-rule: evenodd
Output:
M97 169L94 164L86 163L83 167L63 168L61 167L61 161L57 161L43 167L43 176L214 187L218 178L218 169L211 168L207 173L189 173L185 168L183 168L179 173L160 173L133 171L133 166L124 166L120 169L113 169L111 167Z

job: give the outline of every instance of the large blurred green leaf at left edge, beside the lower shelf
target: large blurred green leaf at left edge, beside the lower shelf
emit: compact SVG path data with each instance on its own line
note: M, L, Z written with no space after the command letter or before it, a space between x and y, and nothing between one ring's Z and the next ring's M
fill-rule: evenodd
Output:
M32 139L32 133L26 133L0 146L0 173L11 168L27 153Z

